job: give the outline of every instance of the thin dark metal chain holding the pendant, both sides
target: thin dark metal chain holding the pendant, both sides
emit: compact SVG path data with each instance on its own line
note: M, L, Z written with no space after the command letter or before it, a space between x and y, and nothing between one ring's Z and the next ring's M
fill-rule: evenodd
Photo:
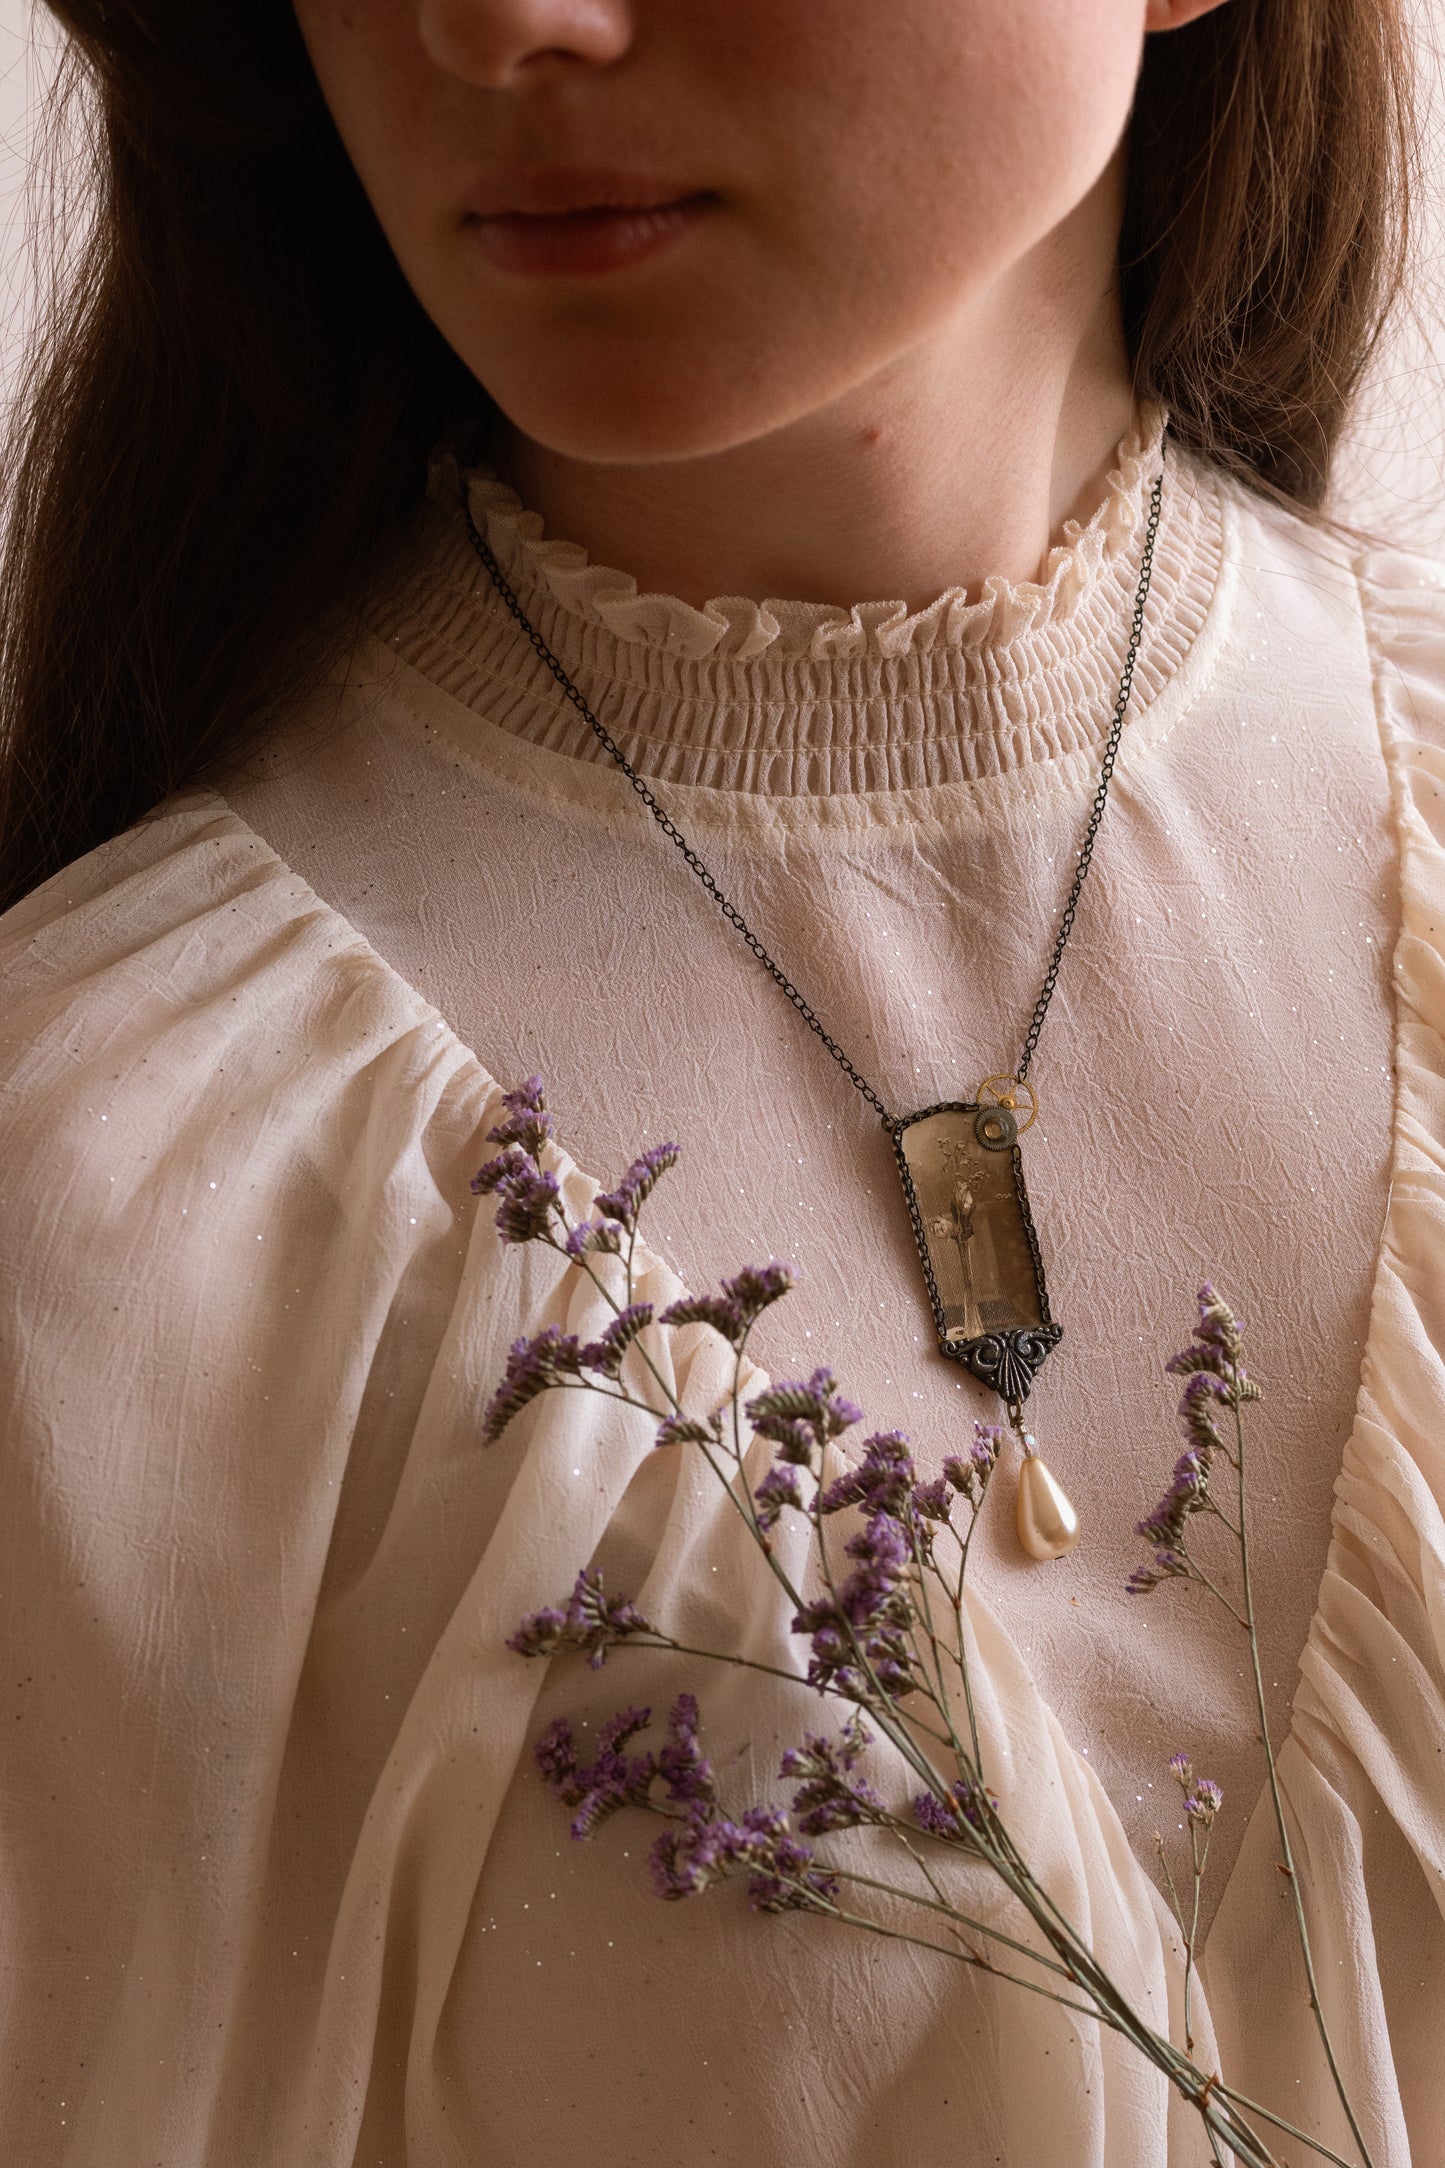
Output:
M1150 581L1150 572L1153 572L1153 564L1155 564L1155 533L1159 529L1159 496L1161 496L1161 488L1163 488L1163 473L1159 473L1155 477L1155 488L1153 488L1150 507L1148 507L1148 533L1144 535L1144 564L1142 564L1142 572L1140 572L1140 590L1137 590L1135 603L1133 603L1133 624L1131 624L1131 631L1129 631L1129 655L1124 659L1124 674L1120 679L1118 702L1114 707L1114 726L1109 731L1109 741L1105 746L1105 759L1103 759L1103 767L1101 767L1101 774L1098 774L1098 789L1094 791L1094 806L1090 811L1090 822L1088 822L1088 828L1083 830L1083 846L1079 850L1079 869L1075 874L1075 885L1068 891L1068 902L1064 906L1064 919L1059 924L1059 937L1053 943L1053 956L1049 958L1049 971L1044 976L1044 986L1042 986L1042 993L1040 993L1040 997L1038 997L1038 1002L1033 1006L1033 1021L1029 1023L1029 1036L1025 1038L1023 1060L1020 1060L1020 1064L1016 1069L1016 1077L1018 1077L1020 1084L1023 1084L1023 1080L1029 1073L1029 1062L1031 1062L1033 1049L1038 1045L1038 1034L1044 1028L1044 1015L1049 1010L1049 1002L1053 999L1053 989L1055 989L1055 982L1059 978L1059 958L1064 956L1064 947L1066 947L1068 937L1070 937L1072 926L1075 926L1075 911L1079 908L1079 891L1083 889L1083 876L1088 874L1090 859L1094 856L1094 837L1098 835L1098 824L1101 824L1103 811L1105 811L1105 798L1109 796L1109 778L1114 774L1114 759L1118 754L1118 739L1120 739L1120 731L1124 728L1124 709L1129 707L1129 692L1133 687L1133 666L1135 666L1135 659L1137 659L1137 653L1140 653L1140 637L1144 633L1144 605L1148 601L1148 581ZM617 741L609 735L609 731L591 713L591 709L583 700L581 692L576 689L576 685L572 683L572 679L568 676L568 672L561 668L561 663L552 655L552 650L548 648L546 640L542 637L542 633L535 629L535 624L531 622L531 618L526 616L526 611L518 603L516 592L507 583L507 577L505 577L500 564L492 555L492 549L490 549L485 535L477 529L477 520L472 518L472 507L468 503L466 486L461 490L461 509L466 514L468 533L472 538L477 555L481 557L481 562L485 564L485 568L487 568L487 572L492 577L492 585L496 588L496 592L500 594L503 603L507 605L507 609L511 611L511 616L518 620L518 624L526 633L526 637L533 644L537 657L546 663L546 668L552 672L552 676L561 685L561 689L568 696L568 700L572 702L572 707L587 722L587 728L594 733L594 737L598 739L598 744L602 746L602 750L607 752L607 757L611 761L615 761L615 765L628 778L628 783L633 785L633 789L637 791L637 796L641 798L641 802L646 804L648 813L659 824L659 828L663 830L663 835L667 837L667 841L676 843L676 848L682 852L682 859L687 861L687 865L691 867L691 872L698 876L698 880L702 882L702 887L708 891L708 895L713 898L713 902L717 904L717 908L721 911L721 915L728 919L730 926L737 928L737 932L743 937L743 941L747 943L747 947L752 950L752 954L758 958L758 963L763 965L763 969L769 973L769 978L789 997L789 1002L793 1004L793 1008L797 1010L797 1015L804 1019L804 1023L808 1025L808 1030L815 1032L817 1038L821 1038L821 1043L828 1047L828 1051L832 1054L834 1062L838 1064L838 1069L843 1071L843 1075L849 1080L849 1084L856 1091L862 1093L862 1097L869 1101L869 1106L873 1108L873 1112L882 1119L884 1127L886 1130L895 1130L897 1127L897 1119L888 1112L888 1108L877 1097L877 1093L873 1091L873 1086L869 1084L869 1080L862 1075L860 1069L854 1067L854 1062L847 1058L847 1054L843 1051L843 1047L838 1045L838 1041L830 1038L830 1034L823 1030L823 1025L821 1025L815 1008L804 999L804 995L797 991L797 986L786 976L786 971L782 969L782 965L776 963L769 956L769 952L763 947L763 943L754 934L754 930L747 924L747 919L743 917L743 913L737 908L737 904L732 904L724 895L724 891L719 889L717 880L713 878L713 874L708 872L708 867L704 865L704 861L698 856L698 852L693 850L693 846L687 841L687 837L682 835L682 830L678 828L678 824L656 802L656 798L652 796L652 791L648 789L648 785L643 783L643 778L637 774L637 770L633 767L633 763L628 761L628 757L622 752L622 748L617 746Z

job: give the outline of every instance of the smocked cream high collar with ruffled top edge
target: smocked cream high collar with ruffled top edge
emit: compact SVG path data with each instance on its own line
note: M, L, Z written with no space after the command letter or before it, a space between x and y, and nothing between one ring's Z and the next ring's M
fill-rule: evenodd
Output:
M375 622L487 722L578 761L607 759L492 585L466 503L522 611L641 774L767 796L977 780L1107 731L1161 470L1131 720L1198 637L1222 557L1220 490L1198 462L1166 457L1166 427L1161 405L1135 412L1096 509L1066 520L1036 581L994 575L973 601L947 588L916 611L773 596L695 607L641 592L633 575L548 535L490 466L461 468L440 444L418 577Z

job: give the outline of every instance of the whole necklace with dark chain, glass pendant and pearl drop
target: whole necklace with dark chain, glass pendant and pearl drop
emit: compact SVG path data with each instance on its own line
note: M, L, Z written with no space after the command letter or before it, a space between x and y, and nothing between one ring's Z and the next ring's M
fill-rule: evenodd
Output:
M1163 468L1155 475L1148 501L1148 527L1144 533L1144 555L1140 564L1140 585L1133 598L1129 627L1129 650L1114 702L1114 720L1098 767L1098 785L1090 804L1090 817L1079 846L1079 865L1064 904L1059 930L1044 971L1023 1054L1007 1075L990 1075L977 1086L973 1099L947 1099L938 1106L923 1106L914 1114L893 1114L862 1071L849 1060L843 1047L828 1034L808 999L797 991L780 963L765 950L743 913L721 891L704 861L687 841L665 806L648 789L646 780L630 765L617 741L598 722L583 694L576 689L563 666L548 648L542 633L531 624L516 592L507 583L485 535L472 518L472 507L461 492L468 533L481 557L492 585L526 633L537 657L552 672L568 700L583 715L594 737L609 759L628 778L643 806L659 824L669 843L678 848L687 867L702 882L728 924L741 934L763 969L789 997L797 1015L828 1054L834 1058L854 1091L867 1099L893 1140L908 1218L912 1223L923 1286L927 1288L938 1333L938 1351L949 1362L964 1364L984 1385L990 1385L1023 1448L1018 1472L1016 1526L1018 1541L1033 1559L1059 1559L1079 1541L1079 1515L1064 1487L1038 1455L1038 1440L1023 1422L1023 1405L1029 1388L1051 1348L1064 1338L1064 1327L1049 1309L1049 1286L1044 1281L1044 1253L1029 1210L1029 1192L1023 1179L1023 1149L1018 1138L1038 1121L1038 1093L1029 1082L1029 1067L1038 1047L1038 1036L1049 1015L1053 989L1059 978L1059 960L1075 930L1075 913L1083 880L1094 856L1094 841L1103 820L1114 761L1118 754L1124 711L1133 692L1133 666L1144 635L1144 605L1148 603L1148 581L1155 564L1155 535L1159 531L1159 501L1163 492Z

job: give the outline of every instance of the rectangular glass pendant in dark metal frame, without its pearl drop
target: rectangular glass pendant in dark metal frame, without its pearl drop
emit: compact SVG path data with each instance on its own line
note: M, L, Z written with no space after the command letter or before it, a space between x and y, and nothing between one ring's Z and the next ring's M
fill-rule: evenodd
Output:
M895 1125L893 1149L940 1351L1023 1403L1064 1327L1049 1316L1023 1151L997 1114L977 1101L929 1106Z

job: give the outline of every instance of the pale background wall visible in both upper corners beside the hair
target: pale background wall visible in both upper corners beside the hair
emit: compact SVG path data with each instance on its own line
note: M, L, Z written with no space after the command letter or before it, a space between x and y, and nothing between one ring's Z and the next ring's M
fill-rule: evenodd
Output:
M1339 509L1445 555L1445 0L1415 0L1415 13L1428 143L1415 295L1361 408ZM24 184L52 50L48 22L30 0L0 0L0 397L26 338Z

